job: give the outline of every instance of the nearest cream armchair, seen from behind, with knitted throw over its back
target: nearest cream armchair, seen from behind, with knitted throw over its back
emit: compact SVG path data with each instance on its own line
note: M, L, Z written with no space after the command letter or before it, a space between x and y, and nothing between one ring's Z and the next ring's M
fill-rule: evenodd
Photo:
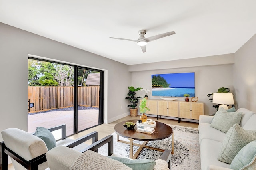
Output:
M103 146L104 144L108 143L108 156L102 156L98 154L96 151L98 148ZM77 152L76 150L72 150L67 147L58 146L53 148L49 152L46 153L46 158L48 160L48 165L50 170L140 170L145 169L146 164L153 161L147 162L140 162L134 163L134 160L130 160L128 158L122 158L121 162L120 159L111 158L112 156L118 156L113 154L113 136L104 138L98 141L98 144L92 144L81 152ZM156 160L153 162L153 170L169 170L170 169L170 158L171 158L171 151L166 150L163 154L161 159ZM136 161L135 161L136 162ZM129 166L127 166L129 164ZM130 167L132 164L133 168ZM134 168L135 166L135 168ZM138 167L139 166L139 167ZM152 167L152 164L151 164ZM146 168L148 170L148 168Z

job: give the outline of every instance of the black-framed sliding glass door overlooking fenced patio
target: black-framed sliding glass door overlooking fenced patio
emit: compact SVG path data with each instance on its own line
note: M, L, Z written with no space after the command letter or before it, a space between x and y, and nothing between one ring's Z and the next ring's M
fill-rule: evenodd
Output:
M71 135L101 123L103 71L29 57L28 132L66 124Z

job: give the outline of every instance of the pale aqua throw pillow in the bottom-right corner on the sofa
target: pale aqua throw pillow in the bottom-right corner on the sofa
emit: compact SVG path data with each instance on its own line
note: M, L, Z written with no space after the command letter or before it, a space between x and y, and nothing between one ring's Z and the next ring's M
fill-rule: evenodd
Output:
M256 141L252 141L244 146L230 164L235 170L256 170Z

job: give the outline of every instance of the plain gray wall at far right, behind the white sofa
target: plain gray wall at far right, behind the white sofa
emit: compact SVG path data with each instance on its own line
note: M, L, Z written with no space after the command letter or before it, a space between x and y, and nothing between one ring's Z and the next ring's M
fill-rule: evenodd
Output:
M256 34L235 53L234 88L238 107L256 112Z

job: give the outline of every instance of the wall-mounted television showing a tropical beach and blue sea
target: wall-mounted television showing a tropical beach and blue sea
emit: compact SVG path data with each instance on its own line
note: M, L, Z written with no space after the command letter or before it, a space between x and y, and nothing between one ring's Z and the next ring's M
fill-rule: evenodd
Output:
M152 79L152 96L183 97L195 96L195 73L154 74Z

